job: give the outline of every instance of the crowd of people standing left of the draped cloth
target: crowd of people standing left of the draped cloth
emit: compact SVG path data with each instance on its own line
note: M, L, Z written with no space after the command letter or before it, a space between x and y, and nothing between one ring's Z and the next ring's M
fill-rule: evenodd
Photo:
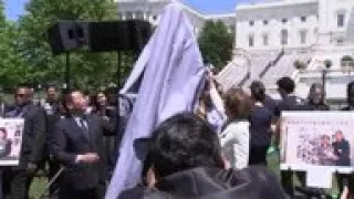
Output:
M29 198L39 170L49 180L55 178L50 198L82 198L87 191L81 190L86 189L94 198L103 198L124 130L116 125L116 93L111 87L93 96L81 91L60 95L49 85L45 98L35 101L31 86L19 85L14 103L1 103L1 116L23 118L24 128L19 166L0 168L0 198ZM0 132L7 136L4 128ZM9 155L12 143L3 144L2 157Z

